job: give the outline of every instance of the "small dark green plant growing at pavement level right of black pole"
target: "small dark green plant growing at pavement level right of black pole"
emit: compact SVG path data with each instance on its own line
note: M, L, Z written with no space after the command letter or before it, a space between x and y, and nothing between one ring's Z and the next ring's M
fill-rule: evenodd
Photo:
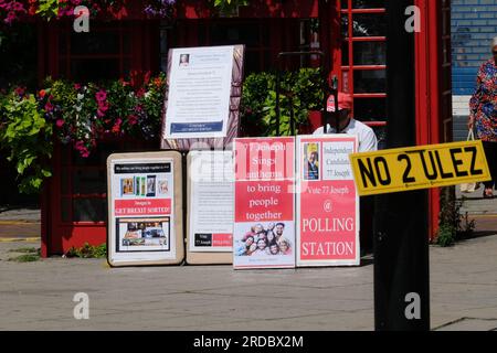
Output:
M435 243L442 247L452 246L457 240L469 238L476 227L475 220L468 214L462 214L461 208L466 199L456 200L454 188L444 188L442 191L442 210L438 216L438 233Z

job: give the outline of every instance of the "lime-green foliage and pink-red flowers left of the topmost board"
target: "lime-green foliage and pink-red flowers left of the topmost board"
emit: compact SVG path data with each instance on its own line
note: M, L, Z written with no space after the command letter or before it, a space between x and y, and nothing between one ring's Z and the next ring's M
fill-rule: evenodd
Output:
M136 78L136 79L135 79ZM160 131L166 77L135 74L131 82L44 83L36 95L0 94L0 150L18 171L19 190L35 193L52 175L53 136L87 158L107 136L152 139Z

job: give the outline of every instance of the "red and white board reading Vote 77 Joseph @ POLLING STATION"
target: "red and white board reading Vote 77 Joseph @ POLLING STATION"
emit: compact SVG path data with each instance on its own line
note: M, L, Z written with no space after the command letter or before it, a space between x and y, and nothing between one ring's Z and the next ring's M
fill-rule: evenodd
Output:
M297 266L360 264L357 137L297 138Z

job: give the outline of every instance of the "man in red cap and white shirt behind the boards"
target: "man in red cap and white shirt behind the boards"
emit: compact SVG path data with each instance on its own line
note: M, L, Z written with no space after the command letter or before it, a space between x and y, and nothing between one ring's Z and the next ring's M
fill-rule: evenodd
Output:
M328 98L328 111L335 111L335 97ZM373 129L366 124L356 120L351 116L352 97L349 94L338 93L338 133L357 135L359 140L358 152L369 152L378 150L378 139ZM331 125L334 125L331 122ZM320 127L314 135L325 133L325 127ZM327 133L337 133L336 128L327 126Z

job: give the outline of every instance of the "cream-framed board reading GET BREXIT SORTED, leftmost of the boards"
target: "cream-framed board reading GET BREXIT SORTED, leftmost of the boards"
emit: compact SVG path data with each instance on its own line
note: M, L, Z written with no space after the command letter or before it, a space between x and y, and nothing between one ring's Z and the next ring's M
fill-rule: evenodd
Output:
M183 260L182 165L177 151L107 159L107 260L110 266Z

